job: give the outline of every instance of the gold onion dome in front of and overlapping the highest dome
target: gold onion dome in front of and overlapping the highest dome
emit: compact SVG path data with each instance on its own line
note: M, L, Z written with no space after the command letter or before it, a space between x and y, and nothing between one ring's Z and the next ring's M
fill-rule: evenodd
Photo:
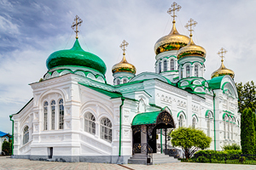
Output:
M192 34L190 34L189 37L189 44L183 48L180 48L177 51L177 59L181 59L186 56L201 56L202 58L206 58L206 49L202 48L201 46L195 45L195 42L193 42L192 39Z

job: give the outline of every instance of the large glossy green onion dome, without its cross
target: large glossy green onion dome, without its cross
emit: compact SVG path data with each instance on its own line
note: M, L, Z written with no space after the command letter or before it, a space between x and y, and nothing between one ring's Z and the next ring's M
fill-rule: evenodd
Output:
M78 39L74 42L73 48L50 54L46 60L46 66L48 70L60 66L82 66L99 71L103 75L107 70L104 61L95 54L84 51Z

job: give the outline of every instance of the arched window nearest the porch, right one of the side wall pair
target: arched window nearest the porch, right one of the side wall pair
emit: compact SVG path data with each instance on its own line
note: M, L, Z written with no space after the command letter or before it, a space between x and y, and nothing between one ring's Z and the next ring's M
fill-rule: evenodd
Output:
M101 120L101 139L112 142L112 123L107 117Z

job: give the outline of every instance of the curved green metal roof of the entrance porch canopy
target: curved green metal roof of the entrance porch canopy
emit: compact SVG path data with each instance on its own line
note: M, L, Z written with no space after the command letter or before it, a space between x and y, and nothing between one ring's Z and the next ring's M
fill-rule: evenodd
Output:
M133 118L131 125L154 124L160 112L161 111L153 111L137 114L137 116Z

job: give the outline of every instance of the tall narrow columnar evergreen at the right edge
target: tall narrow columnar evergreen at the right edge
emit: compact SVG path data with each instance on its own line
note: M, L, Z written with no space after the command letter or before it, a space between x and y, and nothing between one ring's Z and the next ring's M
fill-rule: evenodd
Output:
M243 154L253 155L255 150L255 115L251 108L241 114L241 151Z

